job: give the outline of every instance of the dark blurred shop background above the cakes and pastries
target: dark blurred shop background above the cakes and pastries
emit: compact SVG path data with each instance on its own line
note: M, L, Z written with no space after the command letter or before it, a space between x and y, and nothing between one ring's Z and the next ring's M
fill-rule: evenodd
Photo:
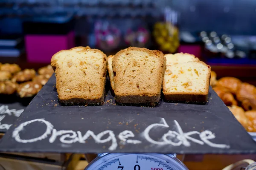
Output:
M0 0L0 62L22 69L75 46L194 54L256 85L255 0Z

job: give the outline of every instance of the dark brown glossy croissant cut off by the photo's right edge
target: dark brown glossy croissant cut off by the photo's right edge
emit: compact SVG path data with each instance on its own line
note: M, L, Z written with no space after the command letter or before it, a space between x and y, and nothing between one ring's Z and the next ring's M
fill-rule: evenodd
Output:
M245 111L256 110L256 87L242 83L236 93L236 98L241 102Z

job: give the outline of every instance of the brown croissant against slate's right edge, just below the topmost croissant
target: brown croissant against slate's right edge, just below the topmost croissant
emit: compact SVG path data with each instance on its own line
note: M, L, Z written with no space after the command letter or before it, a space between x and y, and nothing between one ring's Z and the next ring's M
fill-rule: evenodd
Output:
M227 106L237 105L237 102L234 99L234 96L226 88L223 88L221 86L215 86L212 89L218 94L218 96L225 103L225 105Z

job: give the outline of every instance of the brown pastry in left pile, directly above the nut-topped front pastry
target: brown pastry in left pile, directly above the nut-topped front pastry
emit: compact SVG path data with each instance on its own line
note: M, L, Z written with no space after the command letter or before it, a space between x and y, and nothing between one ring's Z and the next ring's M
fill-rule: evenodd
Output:
M12 81L13 82L26 82L26 81L32 80L34 77L35 77L34 69L25 69L23 71L16 73L13 76Z

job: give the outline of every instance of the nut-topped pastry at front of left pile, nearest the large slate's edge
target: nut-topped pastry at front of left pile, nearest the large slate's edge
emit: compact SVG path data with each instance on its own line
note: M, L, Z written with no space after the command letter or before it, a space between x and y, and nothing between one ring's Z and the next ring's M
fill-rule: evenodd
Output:
M18 86L17 93L21 98L32 97L38 94L41 88L42 85L38 82L24 82Z

